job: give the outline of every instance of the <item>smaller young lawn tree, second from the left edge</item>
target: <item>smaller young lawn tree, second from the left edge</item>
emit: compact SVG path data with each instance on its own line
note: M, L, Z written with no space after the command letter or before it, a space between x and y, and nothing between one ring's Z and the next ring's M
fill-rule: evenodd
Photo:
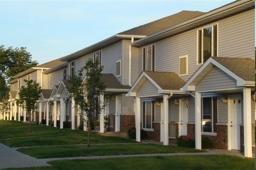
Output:
M19 98L15 99L19 106L25 109L29 115L29 132L31 131L31 115L36 111L36 101L40 97L41 87L33 80L25 80L26 85L21 86Z

